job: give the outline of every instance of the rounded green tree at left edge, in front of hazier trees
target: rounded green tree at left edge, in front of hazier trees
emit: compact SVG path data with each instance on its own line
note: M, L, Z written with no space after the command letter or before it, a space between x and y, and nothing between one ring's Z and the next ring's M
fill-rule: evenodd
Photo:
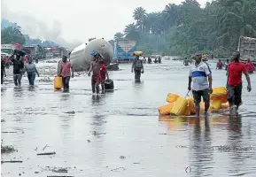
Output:
M26 42L19 26L6 27L1 30L1 43L16 42L23 45Z

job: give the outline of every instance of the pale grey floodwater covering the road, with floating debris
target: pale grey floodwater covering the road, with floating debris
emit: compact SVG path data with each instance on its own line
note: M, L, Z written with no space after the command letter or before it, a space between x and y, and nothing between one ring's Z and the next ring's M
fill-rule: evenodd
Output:
M100 96L91 94L85 74L71 80L69 93L54 92L52 67L57 64L38 64L41 77L32 90L25 77L21 90L13 89L12 74L5 78L2 140L18 151L2 154L2 160L23 162L3 163L2 175L254 177L256 74L251 93L244 79L238 118L159 118L167 93L185 96L188 85L188 67L162 62L145 64L141 83L135 83L131 65L120 65L120 71L109 72L115 90ZM213 87L225 84L225 71L213 69ZM225 145L229 148L218 147ZM56 154L36 155L52 151ZM54 166L67 167L67 173L50 171Z

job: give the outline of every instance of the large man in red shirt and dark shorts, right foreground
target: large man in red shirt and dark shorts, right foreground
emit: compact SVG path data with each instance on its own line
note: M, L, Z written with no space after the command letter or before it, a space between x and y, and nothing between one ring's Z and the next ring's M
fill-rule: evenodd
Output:
M246 67L243 63L239 61L240 53L236 53L231 63L228 66L228 101L230 107L230 114L234 114L237 112L238 107L242 104L242 73L244 73L248 86L247 90L250 92L251 81L249 74L247 73Z

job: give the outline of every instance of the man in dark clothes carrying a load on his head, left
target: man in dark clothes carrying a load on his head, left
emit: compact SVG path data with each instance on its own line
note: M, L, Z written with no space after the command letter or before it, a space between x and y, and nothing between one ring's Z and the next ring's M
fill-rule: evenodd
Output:
M16 59L14 58L14 55L16 55ZM20 54L14 52L12 56L9 58L12 61L13 65L13 80L15 87L18 87L18 89L21 88L21 79L22 75L25 72L24 70L24 62L22 61L22 58L20 58Z

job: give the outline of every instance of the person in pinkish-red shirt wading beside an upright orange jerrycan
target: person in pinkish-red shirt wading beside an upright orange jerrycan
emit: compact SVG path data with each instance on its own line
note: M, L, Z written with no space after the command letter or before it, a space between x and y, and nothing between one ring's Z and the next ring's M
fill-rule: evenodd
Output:
M71 74L72 71L72 74ZM66 56L62 57L62 63L60 65L60 70L58 73L59 76L62 77L62 85L63 85L63 91L69 90L69 81L70 76L74 78L74 69L69 61L67 61Z

